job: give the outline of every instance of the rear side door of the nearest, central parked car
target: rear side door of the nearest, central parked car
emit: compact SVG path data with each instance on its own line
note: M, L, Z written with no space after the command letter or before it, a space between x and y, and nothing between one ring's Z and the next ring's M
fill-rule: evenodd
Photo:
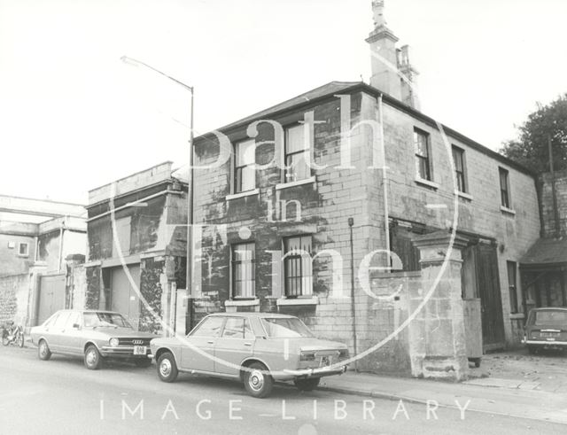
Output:
M214 371L231 376L240 374L242 361L252 356L254 337L244 317L227 317L221 338L214 346Z

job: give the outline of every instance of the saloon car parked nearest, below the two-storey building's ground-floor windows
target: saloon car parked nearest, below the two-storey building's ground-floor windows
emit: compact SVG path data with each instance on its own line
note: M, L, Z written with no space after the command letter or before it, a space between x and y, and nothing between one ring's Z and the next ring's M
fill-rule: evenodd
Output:
M208 315L186 338L152 339L151 353L164 382L180 371L233 378L258 398L275 381L313 390L321 377L344 373L348 359L344 344L315 338L297 317L268 313Z

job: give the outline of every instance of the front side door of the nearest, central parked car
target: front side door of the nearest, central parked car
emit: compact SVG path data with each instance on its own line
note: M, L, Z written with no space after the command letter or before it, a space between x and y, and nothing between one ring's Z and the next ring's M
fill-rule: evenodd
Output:
M221 335L224 317L207 317L186 340L182 341L181 368L184 370L214 371L214 345ZM201 352L198 352L198 350Z

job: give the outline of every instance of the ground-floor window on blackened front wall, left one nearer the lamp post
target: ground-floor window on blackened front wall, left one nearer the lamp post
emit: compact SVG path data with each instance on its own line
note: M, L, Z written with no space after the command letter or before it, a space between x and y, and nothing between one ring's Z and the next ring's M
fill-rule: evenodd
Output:
M253 243L232 245L233 298L253 298L256 294L254 251Z

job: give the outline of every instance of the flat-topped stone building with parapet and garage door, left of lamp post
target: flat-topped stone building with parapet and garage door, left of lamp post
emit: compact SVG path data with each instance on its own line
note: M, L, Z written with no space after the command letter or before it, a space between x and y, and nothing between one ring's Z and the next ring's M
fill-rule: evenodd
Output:
M87 211L82 306L118 311L140 330L162 330L160 319L184 329L187 183L172 163L90 190Z

